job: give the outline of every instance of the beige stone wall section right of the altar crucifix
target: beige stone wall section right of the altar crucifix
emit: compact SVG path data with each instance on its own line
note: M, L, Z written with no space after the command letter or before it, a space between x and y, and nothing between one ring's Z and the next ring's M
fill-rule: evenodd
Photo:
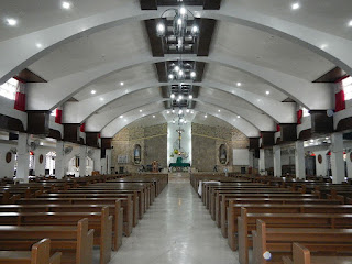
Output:
M193 123L193 167L199 172L211 172L217 165L219 172L227 167L229 172L240 172L233 166L233 148L246 148L249 139L239 130L224 127L211 127ZM220 145L227 148L227 164L220 163Z

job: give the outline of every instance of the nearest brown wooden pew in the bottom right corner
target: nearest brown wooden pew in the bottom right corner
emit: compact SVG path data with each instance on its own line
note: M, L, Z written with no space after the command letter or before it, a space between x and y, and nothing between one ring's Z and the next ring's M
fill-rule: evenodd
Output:
M352 264L352 256L311 256L310 251L299 244L293 244L293 258L283 256L284 264Z

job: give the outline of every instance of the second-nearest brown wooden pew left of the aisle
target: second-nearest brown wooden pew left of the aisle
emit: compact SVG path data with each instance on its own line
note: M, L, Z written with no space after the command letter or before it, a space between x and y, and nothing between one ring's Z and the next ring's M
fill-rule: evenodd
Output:
M0 250L29 250L38 239L50 238L51 248L63 253L62 263L92 264L94 230L88 230L88 219L77 227L0 226Z

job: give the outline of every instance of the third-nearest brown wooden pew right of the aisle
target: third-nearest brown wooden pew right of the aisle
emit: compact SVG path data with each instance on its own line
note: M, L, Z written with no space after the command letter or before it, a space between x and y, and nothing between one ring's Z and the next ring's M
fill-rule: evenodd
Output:
M252 245L250 234L256 228L256 220L261 219L268 228L322 228L322 229L351 229L352 215L341 213L248 213L241 208L238 218L237 233L232 235L239 245L239 260L241 264L249 263L249 249ZM238 235L238 237L237 237Z

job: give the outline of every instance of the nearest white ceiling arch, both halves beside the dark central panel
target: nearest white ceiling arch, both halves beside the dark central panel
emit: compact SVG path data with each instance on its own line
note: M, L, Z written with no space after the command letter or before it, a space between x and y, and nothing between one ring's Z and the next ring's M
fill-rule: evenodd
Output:
M164 10L141 11L136 1L121 2L123 4L121 3L119 8L107 12L2 41L0 43L0 56L2 57L0 82L6 81L65 42L73 41L84 34L91 34L131 21L158 18ZM345 1L345 4L349 6L349 2ZM342 38L332 33L322 32L297 22L289 22L278 18L278 15L263 14L254 9L251 10L244 7L244 3L241 4L234 1L223 1L221 9L218 11L199 10L197 14L202 18L240 23L285 37L320 54L343 68L348 74L352 74L352 55L349 53L352 46L351 40ZM38 41L42 43L43 48L35 46L35 43ZM21 51L21 53L18 51Z

